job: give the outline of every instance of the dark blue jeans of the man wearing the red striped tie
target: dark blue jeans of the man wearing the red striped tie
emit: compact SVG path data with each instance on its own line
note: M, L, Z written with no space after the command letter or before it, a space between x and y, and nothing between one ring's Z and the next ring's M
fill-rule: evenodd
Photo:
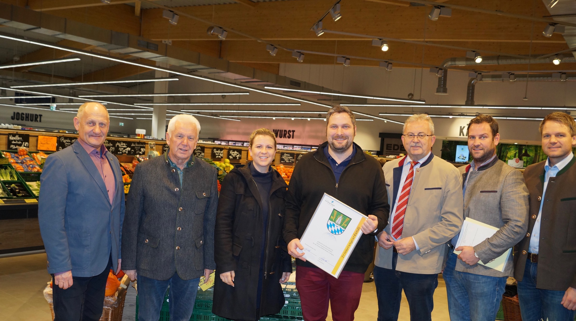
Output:
M374 266L374 284L378 298L378 321L397 321L402 289L410 307L411 321L431 321L434 290L438 274L416 274L396 271L398 254L392 255L392 269Z

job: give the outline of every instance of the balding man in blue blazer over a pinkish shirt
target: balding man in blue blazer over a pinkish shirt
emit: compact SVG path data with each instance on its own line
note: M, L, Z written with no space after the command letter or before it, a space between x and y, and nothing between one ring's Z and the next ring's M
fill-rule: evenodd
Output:
M48 156L40 176L40 232L52 274L55 321L98 320L109 269L119 272L124 188L104 140L109 116L97 102L78 108L78 140Z

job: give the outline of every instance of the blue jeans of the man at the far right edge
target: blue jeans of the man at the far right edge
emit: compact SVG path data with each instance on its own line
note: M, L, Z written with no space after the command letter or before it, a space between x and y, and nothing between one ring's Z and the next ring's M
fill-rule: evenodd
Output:
M538 263L527 260L524 277L518 282L518 300L520 300L522 320L574 321L574 311L560 304L566 291L536 288L537 267Z

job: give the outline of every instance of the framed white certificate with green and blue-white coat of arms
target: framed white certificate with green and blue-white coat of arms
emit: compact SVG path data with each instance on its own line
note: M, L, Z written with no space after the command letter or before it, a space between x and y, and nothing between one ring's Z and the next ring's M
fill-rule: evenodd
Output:
M324 193L300 238L304 250L298 252L304 252L306 261L338 278L362 236L360 228L367 218Z

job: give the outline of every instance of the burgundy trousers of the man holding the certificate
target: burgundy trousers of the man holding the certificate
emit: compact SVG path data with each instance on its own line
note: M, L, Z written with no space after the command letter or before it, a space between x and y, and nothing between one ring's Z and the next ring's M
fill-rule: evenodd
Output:
M324 321L328 316L328 301L332 320L352 321L360 303L364 274L342 271L336 279L319 268L296 267L296 289L306 321Z

